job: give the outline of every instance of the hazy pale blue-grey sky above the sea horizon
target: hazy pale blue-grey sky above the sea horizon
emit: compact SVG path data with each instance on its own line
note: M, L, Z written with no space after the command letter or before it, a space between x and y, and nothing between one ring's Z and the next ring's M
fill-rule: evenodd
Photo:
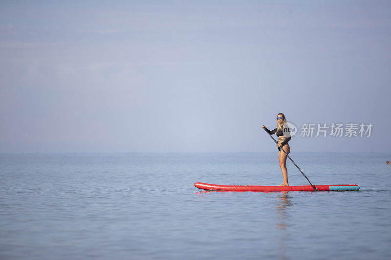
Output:
M0 152L389 152L391 1L0 1Z

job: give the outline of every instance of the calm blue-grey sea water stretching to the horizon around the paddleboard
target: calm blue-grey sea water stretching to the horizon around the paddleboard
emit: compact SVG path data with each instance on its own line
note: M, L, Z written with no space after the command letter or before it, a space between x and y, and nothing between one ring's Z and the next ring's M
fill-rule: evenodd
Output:
M291 157L360 191L193 186L280 184L276 153L2 154L0 259L390 259L391 153Z

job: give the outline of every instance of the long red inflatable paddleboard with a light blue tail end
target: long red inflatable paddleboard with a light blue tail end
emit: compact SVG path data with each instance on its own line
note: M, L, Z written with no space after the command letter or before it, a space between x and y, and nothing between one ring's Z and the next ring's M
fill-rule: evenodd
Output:
M314 191L311 185L302 186L252 186L252 185L218 185L202 182L195 182L194 186L201 190L220 190L220 191ZM341 185L314 185L319 191L331 190L359 190L360 187L355 184Z

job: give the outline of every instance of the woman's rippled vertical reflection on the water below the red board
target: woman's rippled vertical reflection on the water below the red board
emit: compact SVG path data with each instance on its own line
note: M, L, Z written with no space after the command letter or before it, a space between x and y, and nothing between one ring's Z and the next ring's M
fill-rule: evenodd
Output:
M289 196L288 191L282 191L277 196L277 222L276 228L280 230L280 239L278 240L278 253L280 259L287 259L285 256L286 251L289 248L289 232L287 231L287 227L289 226L289 207L292 206L292 201L290 200L292 197Z

